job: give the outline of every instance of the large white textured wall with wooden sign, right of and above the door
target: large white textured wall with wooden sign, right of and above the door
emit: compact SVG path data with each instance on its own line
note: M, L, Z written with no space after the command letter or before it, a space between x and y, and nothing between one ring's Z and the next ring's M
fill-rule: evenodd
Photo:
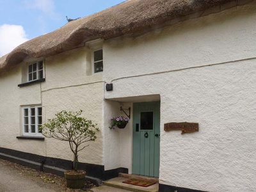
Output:
M114 87L106 99L161 95L161 184L256 190L255 8L104 45L104 80ZM156 72L165 73L141 76ZM199 132L163 130L165 123L185 121L198 122Z

